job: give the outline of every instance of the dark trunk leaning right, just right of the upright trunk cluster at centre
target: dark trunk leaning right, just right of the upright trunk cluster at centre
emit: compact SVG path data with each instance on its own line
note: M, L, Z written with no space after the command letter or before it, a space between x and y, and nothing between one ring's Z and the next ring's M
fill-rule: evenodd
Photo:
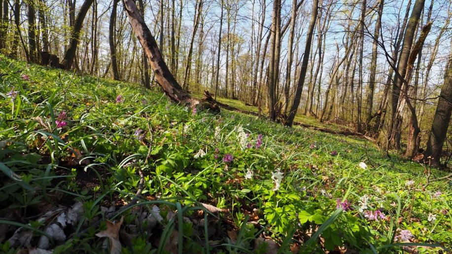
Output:
M298 110L298 106L300 106L301 93L303 91L303 84L305 83L306 72L308 70L309 52L311 52L315 21L317 20L317 9L318 0L313 0L312 16L311 21L309 22L308 35L306 37L305 53L303 55L303 62L301 64L300 76L298 77L297 90L295 92L292 107L290 107L289 115L285 123L286 126L292 126L293 120L295 119L295 114Z

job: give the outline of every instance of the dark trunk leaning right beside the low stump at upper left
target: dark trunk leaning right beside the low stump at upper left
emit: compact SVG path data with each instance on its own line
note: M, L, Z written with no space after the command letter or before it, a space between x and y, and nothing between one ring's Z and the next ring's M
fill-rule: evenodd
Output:
M68 50L65 53L65 57L63 59L62 65L66 70L70 70L72 68L72 64L74 63L75 51L77 50L78 40L80 38L80 31L83 26L83 20L85 19L86 13L88 12L91 4L94 0L85 0L80 7L80 11L78 12L77 18L75 19L74 26L72 28L72 33L70 36L70 43Z

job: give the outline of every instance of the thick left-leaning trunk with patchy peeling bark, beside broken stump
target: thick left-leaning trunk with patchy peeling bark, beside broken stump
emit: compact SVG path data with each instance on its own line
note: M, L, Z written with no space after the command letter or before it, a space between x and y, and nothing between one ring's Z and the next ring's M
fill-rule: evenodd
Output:
M154 36L152 36L151 31L147 28L146 23L135 5L135 2L133 0L123 0L123 3L132 29L146 52L146 55L151 63L151 68L154 71L155 77L157 78L157 81L163 91L174 102L182 104L196 103L196 101L193 100L174 79L173 74L168 69L163 56L160 53Z

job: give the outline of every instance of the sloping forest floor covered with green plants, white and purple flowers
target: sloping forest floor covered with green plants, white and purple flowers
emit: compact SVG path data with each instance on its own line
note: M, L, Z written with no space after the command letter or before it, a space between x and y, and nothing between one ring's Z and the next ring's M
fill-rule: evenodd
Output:
M1 253L452 248L445 170L1 55L0 148Z

